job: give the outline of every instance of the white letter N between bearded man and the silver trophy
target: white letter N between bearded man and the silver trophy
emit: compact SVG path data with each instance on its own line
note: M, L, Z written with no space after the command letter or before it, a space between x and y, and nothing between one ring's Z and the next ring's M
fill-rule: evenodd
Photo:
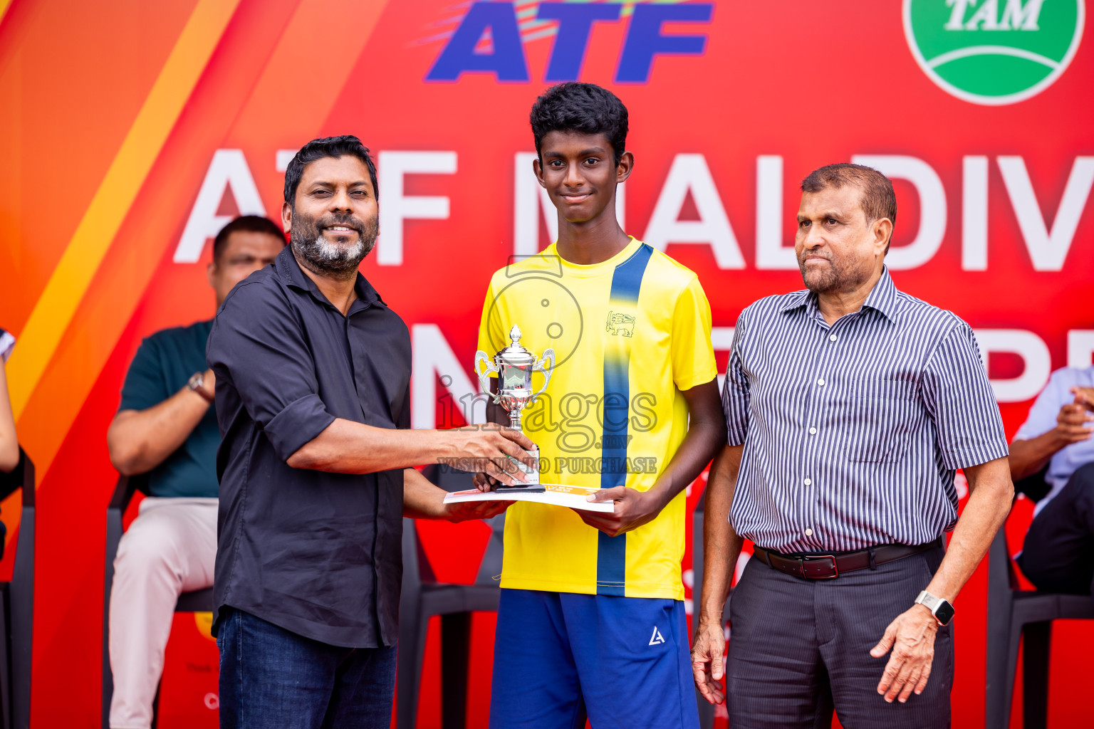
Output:
M410 369L410 427L432 430L437 427L437 378L451 395L453 408L465 409L478 405L473 412L473 422L486 422L486 396L479 395L472 384L459 358L452 352L444 333L435 324L416 324L410 327L410 346L414 353ZM482 402L479 405L479 401ZM481 411L481 412L479 412Z

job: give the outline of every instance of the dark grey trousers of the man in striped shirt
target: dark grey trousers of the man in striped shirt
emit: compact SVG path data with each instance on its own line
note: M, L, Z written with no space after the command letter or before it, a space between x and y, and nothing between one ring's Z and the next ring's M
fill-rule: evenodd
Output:
M894 618L910 608L942 562L938 548L877 569L805 580L753 558L730 601L726 704L733 729L935 729L950 726L952 624L940 627L927 689L885 703L873 658Z

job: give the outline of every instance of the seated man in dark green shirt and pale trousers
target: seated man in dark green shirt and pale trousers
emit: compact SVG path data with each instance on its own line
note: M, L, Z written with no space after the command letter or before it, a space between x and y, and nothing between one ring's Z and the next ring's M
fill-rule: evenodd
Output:
M207 270L218 308L284 245L284 234L265 217L245 215L225 225ZM212 586L220 431L211 407L213 374L206 366L211 328L212 319L198 321L141 342L106 434L118 471L149 474L149 497L114 561L112 729L151 725L175 602L182 592Z

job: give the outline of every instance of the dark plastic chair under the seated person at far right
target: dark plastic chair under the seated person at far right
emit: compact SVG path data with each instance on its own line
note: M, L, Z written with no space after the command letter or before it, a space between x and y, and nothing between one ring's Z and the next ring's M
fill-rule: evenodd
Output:
M1015 493L1044 495L1047 487L1036 481L1041 474L1014 483ZM1054 620L1094 620L1094 597L1060 595L1019 587L1000 529L988 553L988 666L985 683L985 729L1006 729L1017 671L1019 644L1022 661L1022 713L1025 729L1048 724L1048 666ZM1024 638L1024 640L1023 640Z

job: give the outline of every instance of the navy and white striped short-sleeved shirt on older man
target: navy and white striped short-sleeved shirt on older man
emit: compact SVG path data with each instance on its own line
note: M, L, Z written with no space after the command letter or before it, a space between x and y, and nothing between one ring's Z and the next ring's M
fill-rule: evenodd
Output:
M722 403L744 444L730 521L781 552L936 539L957 520L954 470L1008 455L973 330L887 269L831 326L808 291L748 306Z

